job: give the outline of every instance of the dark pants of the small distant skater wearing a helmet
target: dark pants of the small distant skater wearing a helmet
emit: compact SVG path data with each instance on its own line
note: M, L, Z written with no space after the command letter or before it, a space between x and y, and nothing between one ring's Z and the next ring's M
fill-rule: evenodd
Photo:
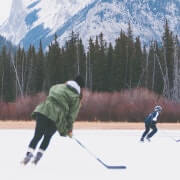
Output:
M152 129L152 131L149 133L150 129ZM156 122L147 122L145 123L145 131L142 135L141 139L144 139L144 137L147 135L147 138L151 138L155 133L157 132L157 127L156 127Z

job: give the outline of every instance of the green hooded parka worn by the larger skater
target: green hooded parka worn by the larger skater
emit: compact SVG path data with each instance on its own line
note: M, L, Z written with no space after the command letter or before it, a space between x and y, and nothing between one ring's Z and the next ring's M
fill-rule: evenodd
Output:
M45 115L54 121L61 136L72 131L73 122L80 109L80 93L67 84L58 84L51 87L46 100L38 105L32 113Z

